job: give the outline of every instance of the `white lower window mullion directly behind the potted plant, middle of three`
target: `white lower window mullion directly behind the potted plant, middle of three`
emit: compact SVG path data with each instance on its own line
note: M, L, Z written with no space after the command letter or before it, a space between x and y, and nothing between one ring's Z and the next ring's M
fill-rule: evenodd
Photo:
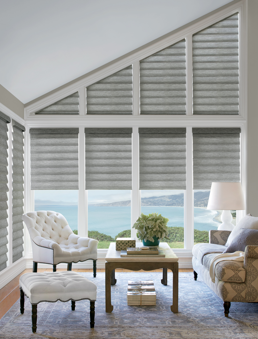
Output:
M136 222L141 214L141 192L139 190L139 133L138 127L133 127L132 134L132 194L131 194L131 224ZM136 238L137 231L132 228L132 237Z

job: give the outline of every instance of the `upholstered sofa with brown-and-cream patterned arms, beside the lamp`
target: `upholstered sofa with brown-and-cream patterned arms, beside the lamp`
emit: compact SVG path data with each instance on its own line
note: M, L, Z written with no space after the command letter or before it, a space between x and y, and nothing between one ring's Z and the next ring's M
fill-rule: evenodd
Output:
M209 243L193 246L192 264L194 280L197 276L224 301L225 317L228 317L231 302L258 302L258 246L244 248L243 261L224 260L215 266L215 283L212 282L209 268L212 260L223 253L237 238L240 230L258 230L258 218L247 215L231 231L211 230ZM258 231L254 231L258 232Z

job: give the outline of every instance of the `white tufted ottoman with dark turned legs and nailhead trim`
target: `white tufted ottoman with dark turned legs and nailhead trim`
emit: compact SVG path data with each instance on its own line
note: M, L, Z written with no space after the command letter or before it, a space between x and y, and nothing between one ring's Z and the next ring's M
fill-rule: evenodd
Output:
M33 333L37 331L37 305L43 301L71 300L74 311L75 301L89 299L90 326L94 327L97 286L79 273L73 271L25 273L20 277L20 291L21 314L24 313L24 295L29 298L32 306Z

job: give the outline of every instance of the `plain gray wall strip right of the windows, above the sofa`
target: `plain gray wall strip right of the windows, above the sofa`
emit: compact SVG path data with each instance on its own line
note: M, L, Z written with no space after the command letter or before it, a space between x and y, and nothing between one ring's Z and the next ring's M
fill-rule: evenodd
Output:
M247 213L258 217L258 1L248 0Z

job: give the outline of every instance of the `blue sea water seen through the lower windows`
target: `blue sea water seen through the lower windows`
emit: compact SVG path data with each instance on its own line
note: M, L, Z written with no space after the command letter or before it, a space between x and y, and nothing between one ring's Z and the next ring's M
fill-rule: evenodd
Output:
M35 206L35 211L55 211L63 214L72 230L77 230L77 206ZM184 207L143 206L142 213L157 212L169 219L168 226L184 226ZM216 211L194 207L194 228L200 231L217 230L218 222L213 218ZM136 221L136 220L135 220ZM89 206L88 229L115 237L119 232L131 228L130 206Z

